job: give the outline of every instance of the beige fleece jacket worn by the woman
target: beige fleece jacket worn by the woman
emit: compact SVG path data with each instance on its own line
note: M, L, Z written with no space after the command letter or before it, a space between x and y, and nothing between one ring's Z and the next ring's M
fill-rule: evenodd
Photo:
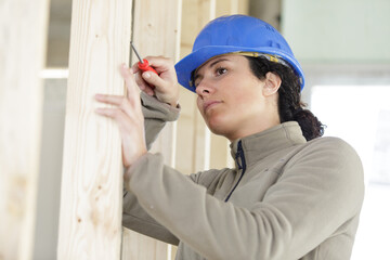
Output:
M151 142L179 109L142 100ZM191 177L144 155L128 169L123 225L179 244L183 260L350 259L364 195L350 145L307 142L289 121L233 142L231 153L234 169Z

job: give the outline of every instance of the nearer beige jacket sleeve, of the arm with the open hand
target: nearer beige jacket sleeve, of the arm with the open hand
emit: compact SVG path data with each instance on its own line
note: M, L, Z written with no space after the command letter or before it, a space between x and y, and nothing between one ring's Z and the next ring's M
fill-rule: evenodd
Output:
M359 156L340 140L295 158L250 209L208 195L158 154L140 158L128 184L150 216L207 259L298 259L359 213L364 182Z

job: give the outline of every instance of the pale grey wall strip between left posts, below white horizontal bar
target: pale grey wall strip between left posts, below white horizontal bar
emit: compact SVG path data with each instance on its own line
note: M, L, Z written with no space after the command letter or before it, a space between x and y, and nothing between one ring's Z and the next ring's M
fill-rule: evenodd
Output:
M66 83L65 78L44 80L34 260L56 258Z

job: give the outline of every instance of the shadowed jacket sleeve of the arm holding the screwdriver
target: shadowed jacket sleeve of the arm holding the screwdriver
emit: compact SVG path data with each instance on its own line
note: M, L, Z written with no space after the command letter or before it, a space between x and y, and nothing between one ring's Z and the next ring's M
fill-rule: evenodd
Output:
M180 107L173 108L143 92L141 101L145 118L146 146L150 150L166 122L178 119ZM145 212L131 191L123 192L122 225L169 244L179 243L174 235Z

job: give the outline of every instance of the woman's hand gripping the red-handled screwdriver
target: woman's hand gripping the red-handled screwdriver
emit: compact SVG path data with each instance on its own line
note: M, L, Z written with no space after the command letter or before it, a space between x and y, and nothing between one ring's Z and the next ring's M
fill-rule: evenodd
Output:
M160 102L176 107L179 103L179 83L173 62L162 56L147 56L145 58L158 75L152 72L142 73L135 63L132 70L136 74L138 86L146 94L155 95Z

